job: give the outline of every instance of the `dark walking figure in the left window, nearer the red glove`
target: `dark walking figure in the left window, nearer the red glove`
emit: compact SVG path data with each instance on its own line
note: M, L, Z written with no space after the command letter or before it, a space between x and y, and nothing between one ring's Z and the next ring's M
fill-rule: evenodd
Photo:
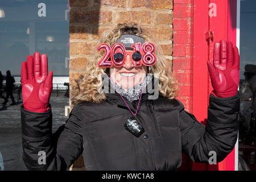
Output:
M13 97L13 88L14 88L14 83L15 83L15 80L14 80L14 77L11 76L11 72L10 70L8 70L6 72L6 99L5 99L5 102L3 102L2 104L3 105L6 105L6 103L8 102L8 98L9 96L11 97L11 101L13 101L11 103L11 105L15 105L15 100L14 100L14 97Z

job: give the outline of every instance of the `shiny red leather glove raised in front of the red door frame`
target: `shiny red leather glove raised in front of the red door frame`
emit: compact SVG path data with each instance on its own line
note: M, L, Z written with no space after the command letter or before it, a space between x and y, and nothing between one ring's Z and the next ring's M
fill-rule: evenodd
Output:
M213 92L217 97L236 96L239 85L240 57L237 47L221 40L214 44L213 65L207 61Z

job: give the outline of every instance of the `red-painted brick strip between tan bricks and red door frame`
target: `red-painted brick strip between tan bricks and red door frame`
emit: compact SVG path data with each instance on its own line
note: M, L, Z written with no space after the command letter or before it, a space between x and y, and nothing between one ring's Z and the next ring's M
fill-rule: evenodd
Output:
M192 113L193 90L193 0L174 0L173 72L179 83L179 99ZM189 169L189 160L182 155L180 171Z

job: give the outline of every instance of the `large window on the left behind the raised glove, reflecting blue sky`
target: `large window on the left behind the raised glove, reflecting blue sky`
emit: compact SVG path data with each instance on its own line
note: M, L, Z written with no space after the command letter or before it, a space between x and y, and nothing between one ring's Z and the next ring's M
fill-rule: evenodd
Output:
M69 1L0 0L0 71L15 78L15 105L0 97L0 170L26 170L22 161L20 106L22 61L34 52L48 56L53 71L53 132L65 121L69 106ZM1 93L6 96L5 80ZM1 96L1 94L0 94ZM68 111L67 111L68 113Z

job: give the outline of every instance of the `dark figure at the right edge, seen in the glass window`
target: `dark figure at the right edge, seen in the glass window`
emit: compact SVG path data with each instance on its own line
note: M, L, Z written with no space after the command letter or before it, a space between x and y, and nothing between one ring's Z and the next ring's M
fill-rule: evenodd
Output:
M250 135L255 134L256 65L246 64L243 75L245 75L245 82L240 89L240 142L248 140Z

